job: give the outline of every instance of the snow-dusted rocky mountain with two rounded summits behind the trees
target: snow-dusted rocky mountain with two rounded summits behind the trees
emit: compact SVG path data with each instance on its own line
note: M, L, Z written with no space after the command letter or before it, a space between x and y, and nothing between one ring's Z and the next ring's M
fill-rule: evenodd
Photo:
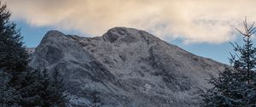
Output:
M196 87L209 87L205 79L224 66L125 27L102 37L49 31L31 59L32 67L60 70L70 105L83 107L95 87L104 107L199 106Z

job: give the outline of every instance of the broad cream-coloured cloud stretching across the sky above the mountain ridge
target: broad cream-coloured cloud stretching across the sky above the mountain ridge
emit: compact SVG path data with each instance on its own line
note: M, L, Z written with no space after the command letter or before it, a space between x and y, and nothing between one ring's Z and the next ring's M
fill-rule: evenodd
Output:
M232 41L254 0L8 0L15 20L101 36L114 26L134 27L185 43Z

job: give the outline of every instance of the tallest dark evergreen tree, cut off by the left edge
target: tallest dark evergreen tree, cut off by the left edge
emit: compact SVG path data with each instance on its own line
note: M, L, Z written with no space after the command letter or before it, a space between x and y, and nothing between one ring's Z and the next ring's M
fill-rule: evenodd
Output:
M0 2L0 75L1 103L16 105L20 102L21 84L27 68L26 48L21 42L20 31L9 20L10 13L6 4Z

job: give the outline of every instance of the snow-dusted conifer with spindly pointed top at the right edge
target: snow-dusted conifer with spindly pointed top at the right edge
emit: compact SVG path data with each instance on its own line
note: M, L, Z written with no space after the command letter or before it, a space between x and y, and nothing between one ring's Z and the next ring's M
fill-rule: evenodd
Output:
M201 94L203 106L207 107L255 107L256 106L256 48L253 47L252 36L256 31L253 25L243 22L244 44L232 44L235 54L231 54L230 66L212 76L209 83L212 88Z

